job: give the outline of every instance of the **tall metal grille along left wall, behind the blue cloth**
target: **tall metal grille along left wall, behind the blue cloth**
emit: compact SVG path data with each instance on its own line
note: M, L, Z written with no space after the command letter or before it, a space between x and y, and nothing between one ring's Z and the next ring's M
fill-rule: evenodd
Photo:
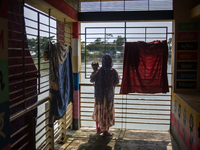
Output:
M43 52L49 40L71 46L71 26L53 18L51 10L46 14L17 0L8 7L11 149L54 149L72 124L72 104L49 128L49 61Z

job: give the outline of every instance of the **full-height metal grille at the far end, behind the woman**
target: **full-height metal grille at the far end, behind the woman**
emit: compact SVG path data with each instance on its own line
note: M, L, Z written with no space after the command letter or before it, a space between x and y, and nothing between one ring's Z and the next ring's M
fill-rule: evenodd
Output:
M123 50L125 41L167 40L167 27L86 27L85 43L82 42L82 83L81 91L81 125L91 125L94 87L88 83L92 72L91 62L98 61L108 53L113 58L115 68L121 79L123 72ZM83 45L84 43L84 45ZM171 51L169 51L168 80L171 84ZM120 81L121 83L121 81ZM120 84L115 88L115 126L114 128L169 130L171 110L171 85L167 94L119 94ZM94 124L93 124L94 126Z

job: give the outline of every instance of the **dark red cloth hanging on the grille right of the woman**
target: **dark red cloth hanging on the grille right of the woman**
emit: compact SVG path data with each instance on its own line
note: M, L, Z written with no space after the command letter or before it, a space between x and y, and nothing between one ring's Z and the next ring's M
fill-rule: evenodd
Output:
M167 41L126 42L121 94L166 93Z

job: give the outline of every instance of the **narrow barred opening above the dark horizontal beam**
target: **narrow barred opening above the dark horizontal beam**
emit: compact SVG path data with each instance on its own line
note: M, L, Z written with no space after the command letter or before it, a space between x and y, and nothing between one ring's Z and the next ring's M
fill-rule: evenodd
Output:
M80 12L173 10L173 0L80 0Z

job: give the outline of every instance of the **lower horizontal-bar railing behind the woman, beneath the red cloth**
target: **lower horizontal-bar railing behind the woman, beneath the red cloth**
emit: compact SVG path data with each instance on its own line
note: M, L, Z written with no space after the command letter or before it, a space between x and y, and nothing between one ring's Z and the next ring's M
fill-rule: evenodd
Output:
M115 88L115 125L113 128L169 130L171 94L119 94ZM171 86L170 86L171 88ZM80 84L81 126L95 126L92 120L94 85Z

